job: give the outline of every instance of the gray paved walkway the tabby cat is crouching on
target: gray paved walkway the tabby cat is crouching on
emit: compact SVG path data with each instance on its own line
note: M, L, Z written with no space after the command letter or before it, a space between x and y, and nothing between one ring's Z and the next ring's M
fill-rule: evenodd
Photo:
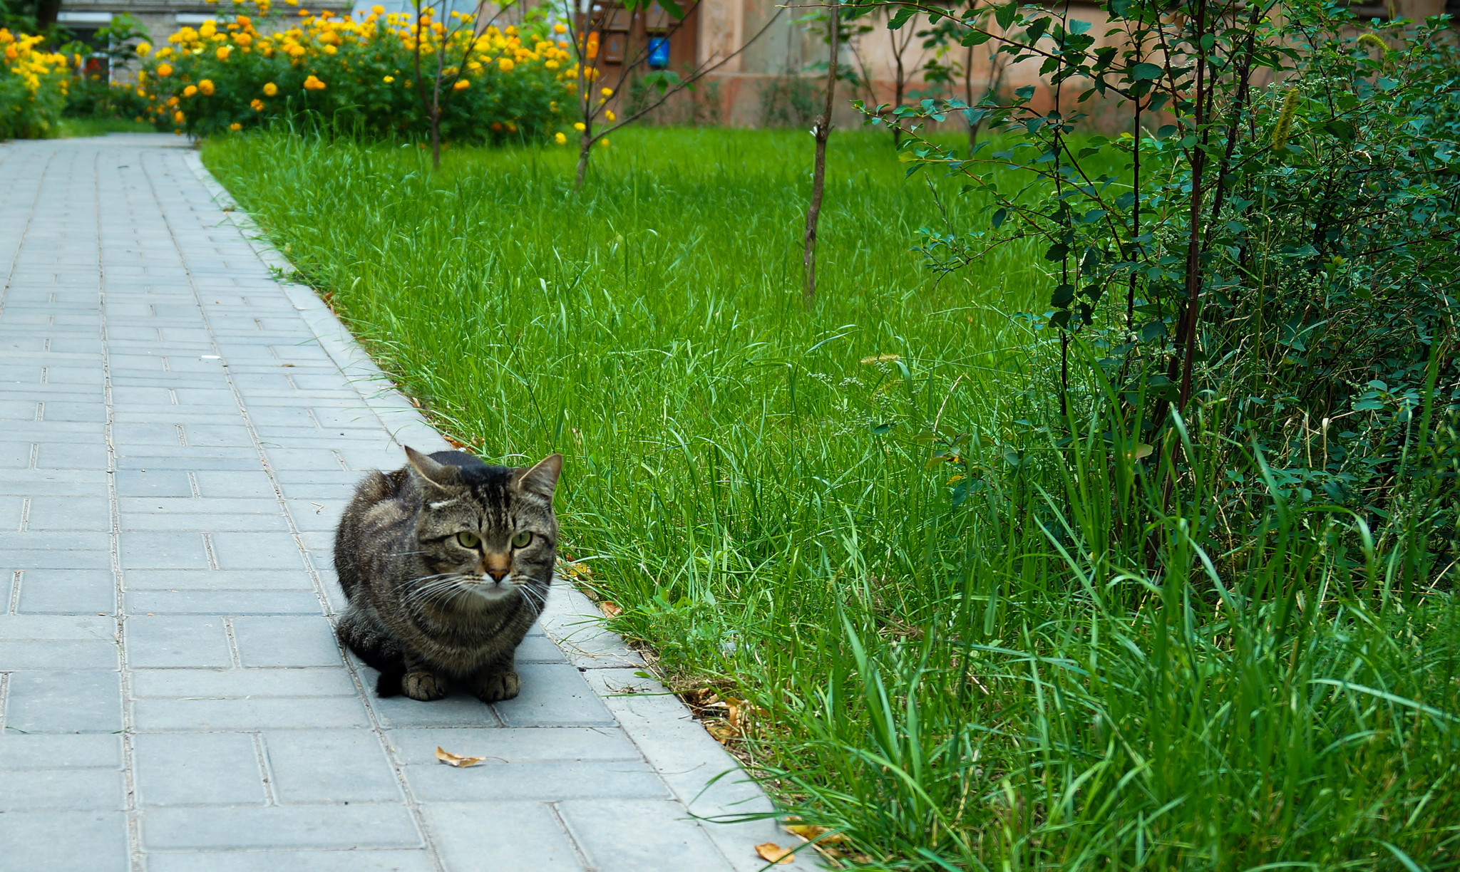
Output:
M688 811L764 796L701 793L733 761L566 585L518 698L374 698L331 531L444 443L181 144L0 144L0 868L761 868Z

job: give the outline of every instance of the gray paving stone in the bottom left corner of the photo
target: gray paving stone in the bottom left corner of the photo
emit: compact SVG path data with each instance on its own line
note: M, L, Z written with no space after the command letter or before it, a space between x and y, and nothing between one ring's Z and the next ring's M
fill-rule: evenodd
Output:
M16 811L0 815L0 857L16 871L128 872L120 811Z

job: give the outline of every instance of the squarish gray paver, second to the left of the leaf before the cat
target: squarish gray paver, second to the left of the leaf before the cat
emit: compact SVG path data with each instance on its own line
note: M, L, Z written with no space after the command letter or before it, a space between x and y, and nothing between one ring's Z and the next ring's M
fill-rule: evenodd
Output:
M139 733L137 801L159 805L263 805L269 799L248 733Z

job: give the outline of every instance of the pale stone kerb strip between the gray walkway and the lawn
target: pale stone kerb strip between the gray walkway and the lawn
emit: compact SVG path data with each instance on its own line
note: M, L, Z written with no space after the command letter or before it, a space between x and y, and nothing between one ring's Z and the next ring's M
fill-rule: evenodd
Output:
M279 284L293 308L310 325L320 346L346 373L371 411L397 445L441 451L450 445L410 404L380 366L365 353L349 328L308 286L288 279L293 265L273 245L234 197L203 165L197 150L184 155L188 169L223 210L231 223L257 257L280 271ZM677 696L658 681L647 677L642 658L623 639L603 627L597 607L566 579L556 579L553 595L542 615L545 633L578 666L588 685L619 720L629 739L648 764L669 785L676 799L692 815L701 818L701 828L736 872L764 869L818 869L812 852L802 850L796 862L771 866L758 859L753 846L774 841L781 846L797 838L771 817L775 806L750 776L695 720ZM742 820L762 815L758 820ZM740 822L715 822L734 821Z

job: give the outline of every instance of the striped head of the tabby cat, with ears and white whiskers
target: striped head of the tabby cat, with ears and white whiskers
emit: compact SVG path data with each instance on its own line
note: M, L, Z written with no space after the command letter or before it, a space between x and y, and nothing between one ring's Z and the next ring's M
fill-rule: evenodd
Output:
M406 455L422 493L416 540L429 569L416 592L460 610L529 596L540 610L556 557L552 494L562 455L526 470L463 452Z

